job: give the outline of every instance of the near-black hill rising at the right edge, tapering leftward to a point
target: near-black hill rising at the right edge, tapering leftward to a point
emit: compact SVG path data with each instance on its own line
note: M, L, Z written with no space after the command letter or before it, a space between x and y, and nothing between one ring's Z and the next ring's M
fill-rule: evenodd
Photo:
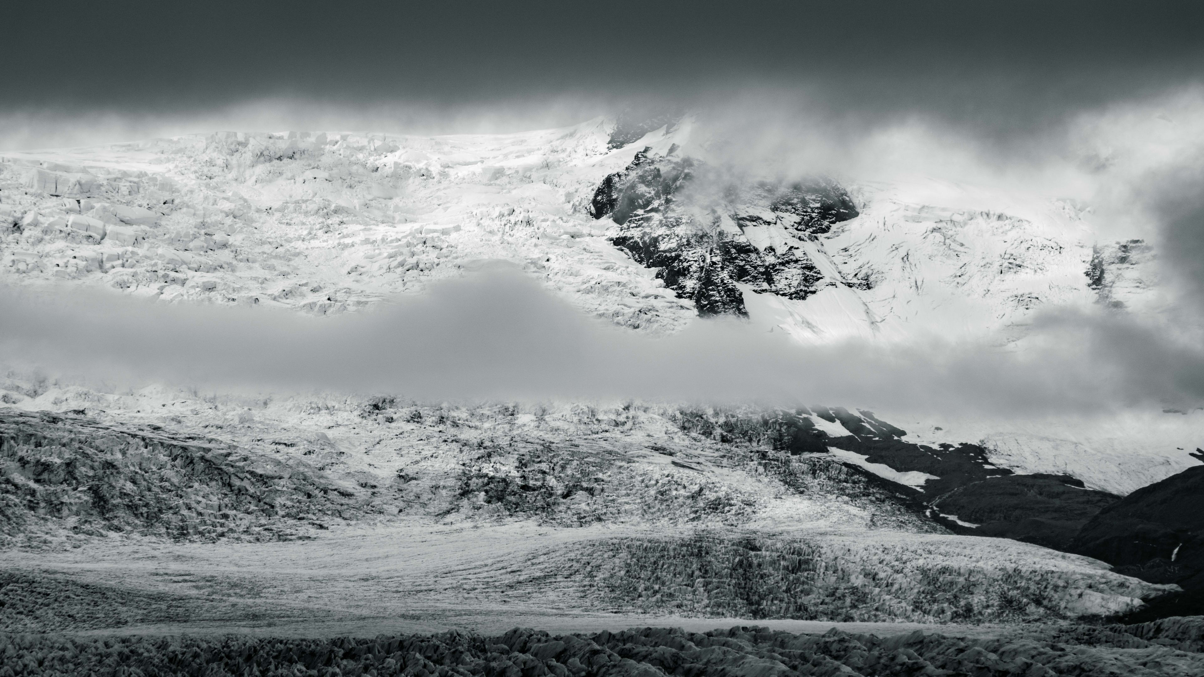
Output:
M1204 466L1133 491L1105 507L1069 544L1116 570L1204 590Z

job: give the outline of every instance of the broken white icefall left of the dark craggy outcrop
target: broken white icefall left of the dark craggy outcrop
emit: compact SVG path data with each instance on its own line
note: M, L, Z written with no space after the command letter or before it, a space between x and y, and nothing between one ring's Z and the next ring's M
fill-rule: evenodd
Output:
M502 259L586 312L677 329L690 310L579 210L631 159L606 143L594 120L500 136L213 134L6 155L0 269L6 282L331 313Z

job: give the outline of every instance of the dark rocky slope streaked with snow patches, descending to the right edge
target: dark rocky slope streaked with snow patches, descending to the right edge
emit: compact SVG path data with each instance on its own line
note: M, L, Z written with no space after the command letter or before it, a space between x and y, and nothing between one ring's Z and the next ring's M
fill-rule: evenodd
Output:
M681 420L687 430L732 445L792 454L827 452L851 461L896 487L911 487L913 500L946 518L944 524L957 532L1086 554L1150 582L1176 583L1188 591L1200 588L1198 511L1192 506L1204 491L1199 487L1204 466L1188 467L1122 499L1088 489L1069 475L1016 475L997 467L990 452L976 445L905 441L905 430L868 411L813 406L793 412L733 412L719 420L686 414ZM819 428L824 423L839 428ZM1192 460L1199 455L1184 454Z

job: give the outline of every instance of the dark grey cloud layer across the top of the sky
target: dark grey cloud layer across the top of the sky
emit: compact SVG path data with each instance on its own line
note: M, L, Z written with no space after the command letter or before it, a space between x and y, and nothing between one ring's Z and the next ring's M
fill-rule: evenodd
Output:
M622 102L742 87L1002 125L1204 72L1204 2L13 2L0 108Z

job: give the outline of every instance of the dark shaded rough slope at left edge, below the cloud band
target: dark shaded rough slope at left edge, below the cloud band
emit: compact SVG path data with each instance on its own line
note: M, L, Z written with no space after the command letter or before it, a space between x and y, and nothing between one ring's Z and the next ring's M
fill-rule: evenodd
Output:
M0 410L0 534L65 529L172 538L295 535L371 512L350 487L213 440Z

